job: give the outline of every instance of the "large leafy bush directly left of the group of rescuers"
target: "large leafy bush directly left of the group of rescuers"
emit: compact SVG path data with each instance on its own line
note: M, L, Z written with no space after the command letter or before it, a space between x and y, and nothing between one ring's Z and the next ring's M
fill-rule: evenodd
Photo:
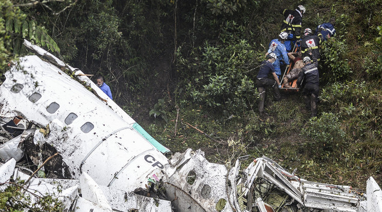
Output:
M239 113L257 95L252 78L259 53L245 39L236 38L233 28L240 31L235 23L226 23L227 31L221 35L223 44L206 41L199 51L194 49L193 59L186 60L179 50L178 68L192 102Z

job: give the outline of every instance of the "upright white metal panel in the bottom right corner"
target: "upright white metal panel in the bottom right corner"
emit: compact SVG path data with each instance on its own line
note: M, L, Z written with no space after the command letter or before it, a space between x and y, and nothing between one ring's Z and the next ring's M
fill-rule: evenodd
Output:
M382 211L382 190L373 177L370 177L366 186L367 203L369 212L381 212Z

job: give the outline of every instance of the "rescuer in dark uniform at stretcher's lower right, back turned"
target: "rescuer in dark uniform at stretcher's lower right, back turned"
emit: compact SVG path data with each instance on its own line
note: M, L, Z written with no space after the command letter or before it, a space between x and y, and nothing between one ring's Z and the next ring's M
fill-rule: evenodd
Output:
M314 54L310 53L313 58L306 56L303 58L304 67L298 75L297 85L300 86L304 80L303 95L307 110L311 111L311 117L317 116L317 101L319 92L319 74L318 74L318 61Z

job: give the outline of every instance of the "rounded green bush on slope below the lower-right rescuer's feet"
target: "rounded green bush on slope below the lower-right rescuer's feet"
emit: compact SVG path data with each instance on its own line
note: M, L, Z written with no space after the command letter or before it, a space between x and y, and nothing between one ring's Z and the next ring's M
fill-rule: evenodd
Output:
M301 135L307 138L304 151L318 159L328 158L334 150L343 146L346 138L338 117L333 113L322 113L319 118L311 118L301 129Z

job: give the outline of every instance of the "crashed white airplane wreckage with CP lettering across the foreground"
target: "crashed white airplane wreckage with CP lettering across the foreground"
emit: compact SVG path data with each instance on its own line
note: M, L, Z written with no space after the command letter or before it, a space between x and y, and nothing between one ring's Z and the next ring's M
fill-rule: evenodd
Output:
M2 190L25 180L67 211L382 211L372 177L363 194L298 178L266 157L245 168L248 157L227 168L200 150L167 159L170 151L82 71L24 45L35 55L15 62L0 87ZM15 168L23 158L45 177Z

